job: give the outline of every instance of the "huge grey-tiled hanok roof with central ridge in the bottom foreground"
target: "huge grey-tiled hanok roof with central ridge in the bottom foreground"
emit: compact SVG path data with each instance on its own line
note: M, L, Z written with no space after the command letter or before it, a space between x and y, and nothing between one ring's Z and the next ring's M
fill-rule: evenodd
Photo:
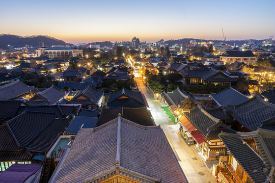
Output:
M160 126L138 125L119 115L104 125L78 132L49 183L68 182L188 181Z

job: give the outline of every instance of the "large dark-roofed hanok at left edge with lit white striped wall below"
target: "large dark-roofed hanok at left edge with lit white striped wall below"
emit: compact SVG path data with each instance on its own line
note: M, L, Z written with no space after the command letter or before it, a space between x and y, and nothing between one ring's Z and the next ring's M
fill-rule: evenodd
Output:
M0 126L0 171L14 163L28 164L45 155L71 119L56 119L55 113L24 111Z

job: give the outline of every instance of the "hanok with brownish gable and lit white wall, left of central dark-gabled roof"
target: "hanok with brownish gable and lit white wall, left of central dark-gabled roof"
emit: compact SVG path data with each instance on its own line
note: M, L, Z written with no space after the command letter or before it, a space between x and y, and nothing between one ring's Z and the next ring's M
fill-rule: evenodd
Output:
M78 92L67 104L82 104L84 107L96 107L104 104L104 92L88 85Z

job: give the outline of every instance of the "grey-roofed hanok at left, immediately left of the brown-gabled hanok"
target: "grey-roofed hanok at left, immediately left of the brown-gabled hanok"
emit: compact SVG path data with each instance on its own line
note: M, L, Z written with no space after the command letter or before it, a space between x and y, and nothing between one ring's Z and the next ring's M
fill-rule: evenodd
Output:
M66 99L70 92L61 91L52 85L50 88L37 92L27 101L27 105L55 105L63 98Z

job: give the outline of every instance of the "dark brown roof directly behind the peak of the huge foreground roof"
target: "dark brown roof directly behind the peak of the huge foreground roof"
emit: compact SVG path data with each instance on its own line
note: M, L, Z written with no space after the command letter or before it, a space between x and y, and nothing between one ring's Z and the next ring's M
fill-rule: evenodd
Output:
M147 107L118 107L103 109L99 116L97 127L113 120L119 113L121 114L121 117L133 121L139 125L155 126L151 112Z

